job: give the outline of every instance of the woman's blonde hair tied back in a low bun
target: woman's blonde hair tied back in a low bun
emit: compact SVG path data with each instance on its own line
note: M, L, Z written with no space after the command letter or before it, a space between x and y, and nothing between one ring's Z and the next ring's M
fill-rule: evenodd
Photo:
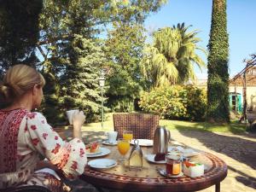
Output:
M45 84L43 75L35 68L22 64L9 68L0 83L0 104L11 104L19 96L32 90L35 84L41 87Z

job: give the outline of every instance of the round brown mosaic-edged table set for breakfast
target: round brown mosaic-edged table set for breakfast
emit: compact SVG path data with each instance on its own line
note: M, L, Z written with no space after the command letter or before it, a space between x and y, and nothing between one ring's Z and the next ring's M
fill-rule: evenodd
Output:
M104 146L105 147L105 146ZM117 147L108 147L111 153L105 157L117 160L120 154ZM143 154L151 154L152 148L143 148ZM94 160L96 158L88 158ZM206 189L215 185L215 191L220 191L220 182L227 176L227 166L223 160L209 153L202 153L192 158L193 161L205 165L205 174L201 177L163 177L157 171L165 165L149 163L143 160L143 170L130 170L124 164L118 164L108 170L94 170L86 166L81 176L85 182L91 183L97 189L119 189L122 191L150 191L150 192L184 192Z

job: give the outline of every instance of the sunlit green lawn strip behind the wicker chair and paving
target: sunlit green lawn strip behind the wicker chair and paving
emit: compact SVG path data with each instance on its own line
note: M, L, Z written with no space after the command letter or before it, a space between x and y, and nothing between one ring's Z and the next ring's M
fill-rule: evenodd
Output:
M101 122L90 123L83 126L83 131L97 130L97 131L110 131L113 130L113 113L106 114L104 121L104 128L102 130ZM227 125L210 124L207 122L189 122L182 120L166 120L160 119L160 125L165 125L170 130L194 130L194 131L213 131L213 132L227 132L234 134L243 134L246 131L246 125L238 123L230 123Z

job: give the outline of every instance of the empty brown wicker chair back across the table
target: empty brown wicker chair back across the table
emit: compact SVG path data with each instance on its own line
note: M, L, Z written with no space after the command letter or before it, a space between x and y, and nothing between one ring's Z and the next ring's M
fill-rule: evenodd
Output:
M114 113L113 128L118 131L118 138L123 131L133 131L134 138L154 139L154 131L159 125L159 117L146 113Z

